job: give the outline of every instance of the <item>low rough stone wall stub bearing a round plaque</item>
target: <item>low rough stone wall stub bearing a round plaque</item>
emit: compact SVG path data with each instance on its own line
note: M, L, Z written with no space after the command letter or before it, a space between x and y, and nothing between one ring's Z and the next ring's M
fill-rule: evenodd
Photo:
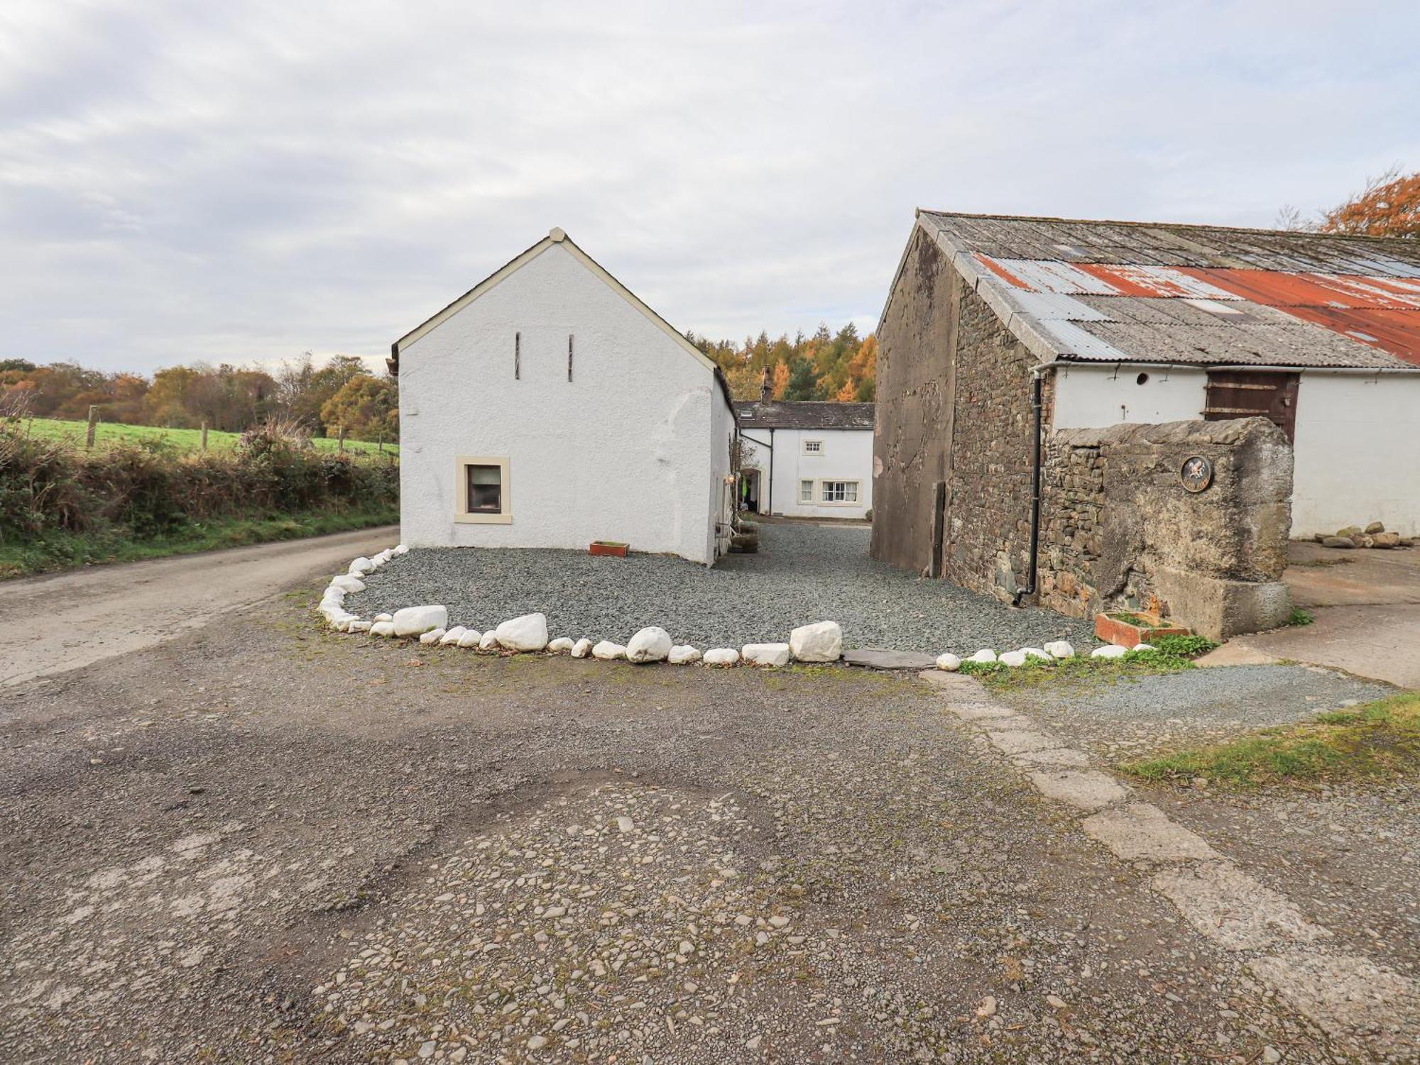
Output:
M1193 454L1214 466L1197 494L1179 480ZM1157 611L1214 639L1285 621L1292 449L1275 425L1065 429L1045 456L1041 605Z

